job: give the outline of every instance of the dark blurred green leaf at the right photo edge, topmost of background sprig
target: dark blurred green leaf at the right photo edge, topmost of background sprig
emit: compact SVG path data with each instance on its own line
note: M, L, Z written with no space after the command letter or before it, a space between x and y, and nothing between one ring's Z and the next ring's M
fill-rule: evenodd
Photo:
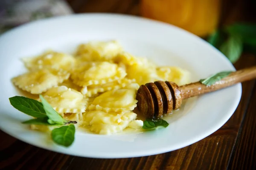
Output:
M241 36L243 42L246 44L256 45L256 24L235 23L231 26L227 26L225 30L229 34Z

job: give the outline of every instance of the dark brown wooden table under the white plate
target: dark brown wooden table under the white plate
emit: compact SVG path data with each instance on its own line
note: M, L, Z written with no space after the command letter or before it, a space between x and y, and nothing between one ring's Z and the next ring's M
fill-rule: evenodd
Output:
M76 12L138 14L138 0L108 0L108 3L106 0L68 0L68 3ZM230 16L234 17L233 14ZM256 65L256 57L243 54L235 67L240 69L252 65ZM215 133L179 150L139 158L91 159L69 156L34 147L0 131L0 169L255 170L255 104L255 81L244 82L241 101L236 112Z

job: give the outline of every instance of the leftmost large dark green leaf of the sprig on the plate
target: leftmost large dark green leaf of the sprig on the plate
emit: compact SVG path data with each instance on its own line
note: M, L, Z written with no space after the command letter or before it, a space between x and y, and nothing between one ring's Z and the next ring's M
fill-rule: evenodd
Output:
M36 118L47 117L41 102L29 99L23 96L14 96L9 98L11 105L18 111Z

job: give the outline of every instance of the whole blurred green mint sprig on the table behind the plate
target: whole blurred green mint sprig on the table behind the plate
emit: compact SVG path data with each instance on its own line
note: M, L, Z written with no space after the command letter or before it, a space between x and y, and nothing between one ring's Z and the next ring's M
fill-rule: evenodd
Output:
M235 63L243 51L256 54L256 24L234 23L219 28L207 41Z

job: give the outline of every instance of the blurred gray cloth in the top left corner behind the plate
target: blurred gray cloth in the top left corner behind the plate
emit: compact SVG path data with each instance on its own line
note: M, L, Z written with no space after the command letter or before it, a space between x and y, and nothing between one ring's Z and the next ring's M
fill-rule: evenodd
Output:
M64 0L0 0L0 33L32 20L72 13Z

